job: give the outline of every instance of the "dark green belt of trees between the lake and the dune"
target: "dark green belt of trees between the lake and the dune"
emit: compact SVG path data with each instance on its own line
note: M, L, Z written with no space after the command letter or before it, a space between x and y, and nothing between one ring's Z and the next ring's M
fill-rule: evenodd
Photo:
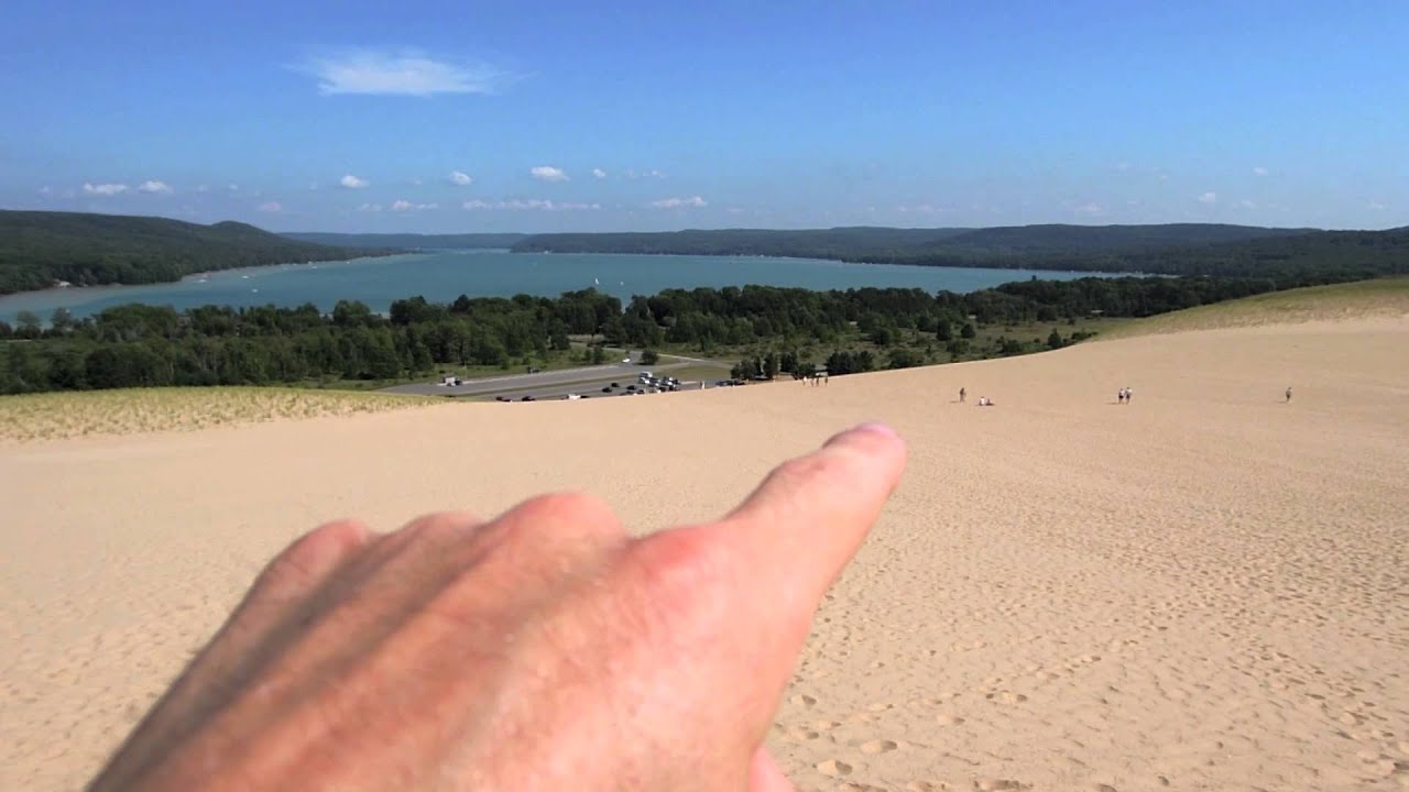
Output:
M203 306L185 311L125 304L76 320L58 310L45 326L23 314L0 323L0 393L166 385L269 385L310 379L396 379L442 365L497 365L571 348L590 335L589 361L603 345L665 345L710 354L768 345L775 359L757 371L810 371L796 349L834 344L831 373L917 365L900 349L902 333L933 334L967 351L975 324L1016 324L1092 316L1143 317L1293 286L1336 275L1271 278L1085 278L1024 280L967 295L921 289L814 292L775 286L668 289L627 304L595 289L559 297L519 295L431 303L409 297L386 316L359 302L331 311L313 304L280 309ZM841 349L857 335L879 349ZM1053 340L1050 340L1053 341ZM1055 344L1069 342L1057 334ZM1020 347L1014 347L1017 351ZM789 352L789 349L792 352ZM1009 354L1005 347L1003 354ZM790 355L790 357L789 357Z

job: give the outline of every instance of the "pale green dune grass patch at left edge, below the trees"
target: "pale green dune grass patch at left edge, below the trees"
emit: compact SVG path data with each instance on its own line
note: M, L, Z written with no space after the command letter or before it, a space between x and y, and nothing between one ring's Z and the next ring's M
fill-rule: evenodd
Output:
M0 396L0 443L348 416L440 399L292 388L134 388Z

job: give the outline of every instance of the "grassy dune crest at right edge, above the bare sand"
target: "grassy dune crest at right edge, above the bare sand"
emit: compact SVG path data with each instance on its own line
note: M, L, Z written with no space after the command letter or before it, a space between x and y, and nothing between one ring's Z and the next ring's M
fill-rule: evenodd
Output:
M1116 324L1096 341L1189 330L1409 316L1409 278L1288 289Z

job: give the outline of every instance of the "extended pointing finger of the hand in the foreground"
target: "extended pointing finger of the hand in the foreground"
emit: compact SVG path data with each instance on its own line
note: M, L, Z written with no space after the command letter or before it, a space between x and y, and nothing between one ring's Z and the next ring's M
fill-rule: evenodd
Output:
M862 424L764 479L712 537L734 569L775 605L817 602L881 514L905 471L905 441L888 426ZM803 616L779 613L779 616Z

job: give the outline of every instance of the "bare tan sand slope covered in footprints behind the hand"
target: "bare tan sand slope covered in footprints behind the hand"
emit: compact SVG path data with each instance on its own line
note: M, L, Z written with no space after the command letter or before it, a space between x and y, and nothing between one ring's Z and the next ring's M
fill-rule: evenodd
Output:
M1406 788L1406 349L1312 323L0 448L0 789L80 784L318 520L586 488L644 531L865 419L913 462L779 713L800 789Z

